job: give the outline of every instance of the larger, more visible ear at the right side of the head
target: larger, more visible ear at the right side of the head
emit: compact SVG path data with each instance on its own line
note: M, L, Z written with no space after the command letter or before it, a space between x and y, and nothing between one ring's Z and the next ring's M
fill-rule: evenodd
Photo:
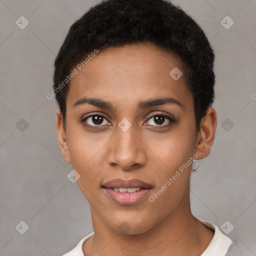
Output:
M201 120L200 130L197 133L196 150L201 153L197 159L202 159L210 153L210 147L215 137L216 125L216 110L213 107L209 107Z

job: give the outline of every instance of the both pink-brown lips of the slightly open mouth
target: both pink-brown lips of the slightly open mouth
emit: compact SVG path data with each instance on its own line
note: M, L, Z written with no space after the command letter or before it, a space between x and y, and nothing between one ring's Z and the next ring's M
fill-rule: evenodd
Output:
M136 192L117 192L113 190L113 187L140 187L141 190ZM103 191L112 200L120 205L127 206L138 203L142 198L144 198L152 189L152 186L139 179L124 180L121 178L112 179L107 181L102 185Z

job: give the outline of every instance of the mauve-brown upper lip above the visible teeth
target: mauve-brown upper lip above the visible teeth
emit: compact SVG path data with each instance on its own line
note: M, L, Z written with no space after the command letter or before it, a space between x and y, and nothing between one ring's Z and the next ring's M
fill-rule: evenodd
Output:
M129 180L124 180L121 178L116 178L116 179L111 179L105 183L102 184L103 187L106 188L130 188L130 187L140 187L140 188L152 188L152 186L140 179L129 179Z

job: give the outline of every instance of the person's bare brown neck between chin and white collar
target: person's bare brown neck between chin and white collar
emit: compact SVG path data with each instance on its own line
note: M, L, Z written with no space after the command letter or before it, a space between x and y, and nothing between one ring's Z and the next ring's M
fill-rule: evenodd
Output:
M192 215L189 204L184 208L182 201L162 221L139 234L116 232L91 213L94 235L83 243L85 256L200 255L214 234Z

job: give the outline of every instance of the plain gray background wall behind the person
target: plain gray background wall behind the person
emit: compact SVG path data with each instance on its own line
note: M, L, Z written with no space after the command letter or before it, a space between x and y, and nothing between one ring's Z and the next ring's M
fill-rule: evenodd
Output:
M66 177L72 167L59 152L57 105L46 94L70 25L96 2L0 0L1 256L61 255L93 231L89 205ZM228 220L228 236L246 256L256 255L256 0L175 3L201 25L216 54L218 124L210 155L191 176L192 212L219 228ZM29 20L24 29L15 24L21 15ZM234 21L229 29L220 23L226 15ZM15 228L21 220L29 226L24 234Z

